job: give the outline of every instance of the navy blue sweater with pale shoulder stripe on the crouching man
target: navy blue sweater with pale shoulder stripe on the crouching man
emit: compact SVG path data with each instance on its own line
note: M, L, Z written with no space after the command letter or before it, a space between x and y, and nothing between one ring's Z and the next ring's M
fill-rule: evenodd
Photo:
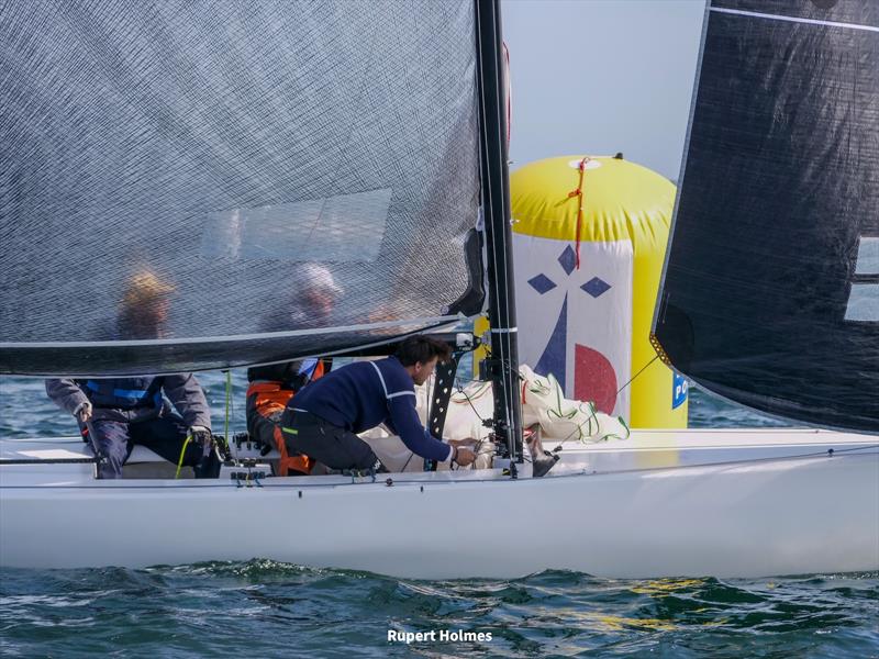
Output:
M334 370L305 386L288 406L353 433L383 423L421 457L441 462L452 457L452 447L421 425L412 376L396 357Z

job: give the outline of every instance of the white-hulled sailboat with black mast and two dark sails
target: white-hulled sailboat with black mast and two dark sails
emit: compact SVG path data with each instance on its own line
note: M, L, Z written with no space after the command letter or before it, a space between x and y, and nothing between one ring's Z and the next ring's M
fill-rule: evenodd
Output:
M411 4L5 8L0 372L351 353L448 327L487 298L493 466L274 477L245 440L218 480L157 477L142 447L130 478L97 480L78 437L3 438L0 566L879 569L876 7L708 7L655 319L658 353L701 386L835 429L560 442L535 478L516 377L499 2ZM778 40L793 54L783 62ZM346 291L332 322L263 330L314 260ZM169 331L107 338L120 282L144 261L175 280Z

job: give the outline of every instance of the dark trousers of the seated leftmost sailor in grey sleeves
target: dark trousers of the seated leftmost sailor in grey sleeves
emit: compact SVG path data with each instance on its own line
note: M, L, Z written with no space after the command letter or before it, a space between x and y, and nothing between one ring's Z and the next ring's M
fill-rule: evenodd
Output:
M177 465L187 436L187 427L175 416L137 423L96 418L88 423L88 428L91 449L97 449L105 458L98 466L98 478L120 478L122 466L131 457L136 444ZM201 465L202 457L202 447L190 442L183 454L183 465L194 469L196 478L215 478L214 467L219 467L219 461L209 456Z

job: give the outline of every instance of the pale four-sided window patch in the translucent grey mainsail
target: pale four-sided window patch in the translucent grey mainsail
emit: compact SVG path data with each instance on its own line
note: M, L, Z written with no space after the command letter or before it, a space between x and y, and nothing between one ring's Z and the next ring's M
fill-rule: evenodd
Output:
M374 261L388 223L391 190L210 213L205 256L234 259Z

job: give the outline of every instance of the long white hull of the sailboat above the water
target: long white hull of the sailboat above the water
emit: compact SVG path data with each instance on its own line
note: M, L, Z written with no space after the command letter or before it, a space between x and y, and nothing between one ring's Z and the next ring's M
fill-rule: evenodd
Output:
M3 443L4 458L11 444ZM43 450L33 446L14 455ZM641 432L626 442L566 445L561 455L543 479L527 469L515 481L499 470L407 473L391 474L390 487L342 477L268 478L249 488L96 481L90 465L3 466L0 565L268 558L423 579L545 569L617 578L879 569L875 438Z

